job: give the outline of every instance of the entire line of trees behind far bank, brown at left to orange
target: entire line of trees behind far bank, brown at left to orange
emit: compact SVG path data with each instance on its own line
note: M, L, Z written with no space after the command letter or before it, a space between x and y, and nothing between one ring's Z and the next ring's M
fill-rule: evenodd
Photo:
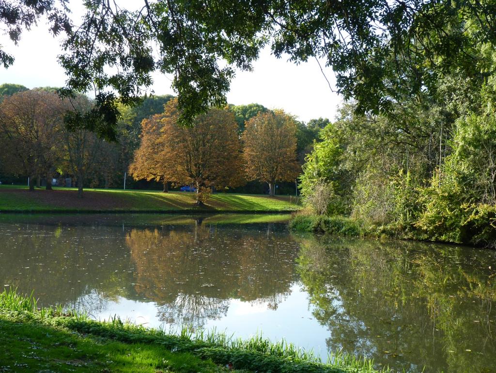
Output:
M185 127L177 125L177 100L164 112L173 96L145 96L140 105L118 106L117 139L109 142L96 136L84 120L83 125L70 125L72 117L85 119L91 100L85 96L61 99L56 91L52 87L29 90L17 84L0 85L3 181L6 176L12 181L29 177L31 190L44 180L51 189L52 177L61 175L77 182L82 195L83 185L122 186L130 171L135 180L159 181L166 190L171 184L198 184L197 189L203 191L200 197L212 188L227 186L260 193L263 184L273 195L276 181L290 180L287 189L294 185L299 165L329 122L319 118L305 124L283 112L248 104L212 109L196 118L193 126ZM250 120L252 126L245 131ZM285 150L276 152L274 147ZM191 161L183 164L187 159ZM140 187L138 181L127 179L131 187Z

